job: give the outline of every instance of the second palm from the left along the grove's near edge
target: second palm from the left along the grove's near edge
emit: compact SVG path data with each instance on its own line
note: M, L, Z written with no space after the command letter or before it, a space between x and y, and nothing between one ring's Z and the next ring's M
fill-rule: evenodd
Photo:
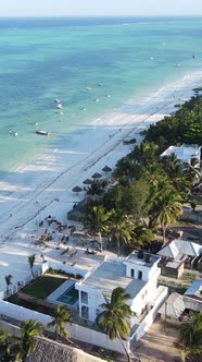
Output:
M128 243L132 239L134 224L129 216L123 214L122 210L112 210L109 229L112 237L116 240L117 255L119 256L121 242Z

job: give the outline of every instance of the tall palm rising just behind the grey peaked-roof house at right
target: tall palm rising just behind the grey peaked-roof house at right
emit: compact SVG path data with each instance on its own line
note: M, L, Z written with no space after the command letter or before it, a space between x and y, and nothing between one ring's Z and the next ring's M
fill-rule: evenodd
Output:
M182 200L179 194L172 189L161 195L162 207L157 220L163 230L163 243L165 243L166 228L174 224L178 216L182 214Z

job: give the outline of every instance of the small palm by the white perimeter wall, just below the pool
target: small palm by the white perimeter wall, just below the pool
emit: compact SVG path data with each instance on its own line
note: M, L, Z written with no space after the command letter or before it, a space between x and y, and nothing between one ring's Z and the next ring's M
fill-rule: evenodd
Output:
M55 312L54 319L50 322L47 327L54 327L55 338L60 336L67 339L70 333L65 328L66 323L72 323L72 314L65 305L59 305Z

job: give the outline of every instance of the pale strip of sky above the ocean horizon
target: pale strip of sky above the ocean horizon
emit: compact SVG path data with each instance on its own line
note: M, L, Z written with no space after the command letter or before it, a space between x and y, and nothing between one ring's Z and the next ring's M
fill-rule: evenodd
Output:
M202 0L0 0L0 16L202 15Z

